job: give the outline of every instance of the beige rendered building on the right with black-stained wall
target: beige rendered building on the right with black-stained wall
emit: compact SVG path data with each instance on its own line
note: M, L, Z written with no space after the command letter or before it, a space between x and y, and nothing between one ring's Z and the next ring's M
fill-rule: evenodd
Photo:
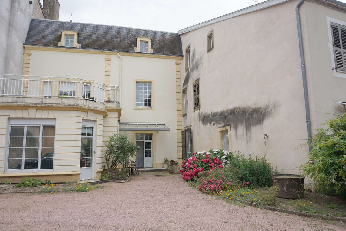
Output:
M298 173L308 161L299 2L266 1L178 31L183 157L210 148L266 154L281 173ZM335 1L299 8L312 137L344 109L337 102L346 101L346 78L335 70L330 22L345 26L345 12Z

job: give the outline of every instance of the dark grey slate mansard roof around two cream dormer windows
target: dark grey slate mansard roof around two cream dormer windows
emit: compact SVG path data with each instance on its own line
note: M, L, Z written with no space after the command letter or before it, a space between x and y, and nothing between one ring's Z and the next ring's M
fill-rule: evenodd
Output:
M154 54L183 56L180 36L176 33L35 18L31 19L25 44L57 46L62 30L78 32L81 48L74 49L134 52L136 38L148 37L152 39Z

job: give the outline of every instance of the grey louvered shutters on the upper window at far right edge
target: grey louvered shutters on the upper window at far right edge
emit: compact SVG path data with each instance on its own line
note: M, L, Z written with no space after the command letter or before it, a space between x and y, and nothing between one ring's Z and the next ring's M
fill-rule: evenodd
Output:
M335 68L346 71L346 27L331 24L333 37Z

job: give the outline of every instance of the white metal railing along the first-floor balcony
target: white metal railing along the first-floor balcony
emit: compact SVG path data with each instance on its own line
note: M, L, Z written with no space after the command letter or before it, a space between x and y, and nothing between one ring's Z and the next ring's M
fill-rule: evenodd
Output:
M76 77L0 74L0 95L119 102L119 86L105 87Z

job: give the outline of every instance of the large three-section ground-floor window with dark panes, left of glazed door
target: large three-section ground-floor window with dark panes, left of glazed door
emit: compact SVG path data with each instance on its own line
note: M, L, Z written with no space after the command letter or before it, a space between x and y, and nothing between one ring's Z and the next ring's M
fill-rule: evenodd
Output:
M55 126L10 126L7 169L53 169Z

